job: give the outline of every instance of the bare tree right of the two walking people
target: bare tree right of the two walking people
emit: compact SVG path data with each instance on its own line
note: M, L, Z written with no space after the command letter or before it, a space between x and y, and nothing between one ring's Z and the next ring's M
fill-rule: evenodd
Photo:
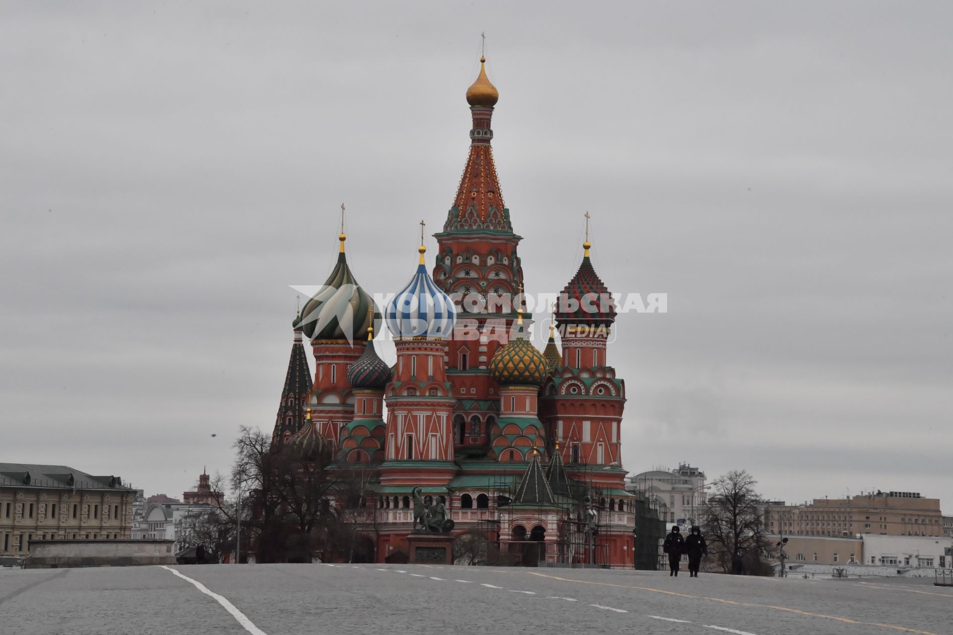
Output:
M761 559L767 550L758 481L741 469L733 469L714 483L704 509L703 531L709 554L725 573L770 575Z

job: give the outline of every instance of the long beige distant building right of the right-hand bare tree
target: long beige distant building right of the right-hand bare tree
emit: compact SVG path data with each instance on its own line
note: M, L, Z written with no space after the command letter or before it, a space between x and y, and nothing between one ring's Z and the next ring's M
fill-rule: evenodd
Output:
M877 491L802 505L770 503L764 509L764 526L794 536L930 537L943 536L943 514L940 499L923 498L919 492Z

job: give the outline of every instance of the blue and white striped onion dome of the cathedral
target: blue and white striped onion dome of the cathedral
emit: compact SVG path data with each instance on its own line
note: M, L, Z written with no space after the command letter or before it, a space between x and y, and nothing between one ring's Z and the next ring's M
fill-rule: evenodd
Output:
M423 262L424 248L419 248L420 264L410 283L387 303L384 321L394 337L429 337L447 339L453 335L456 309L450 296L437 288Z

